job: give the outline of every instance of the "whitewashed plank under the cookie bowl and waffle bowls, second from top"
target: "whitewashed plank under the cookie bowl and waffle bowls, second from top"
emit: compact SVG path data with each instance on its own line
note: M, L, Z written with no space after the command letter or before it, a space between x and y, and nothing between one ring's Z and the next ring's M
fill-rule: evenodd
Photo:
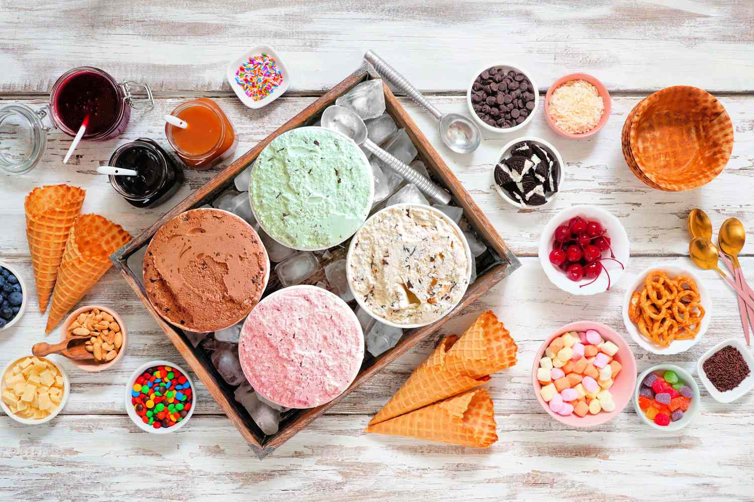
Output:
M613 111L605 129L588 140L560 138L544 122L543 112L540 111L532 124L518 135L484 132L479 150L465 156L449 151L440 143L437 125L430 115L413 102L406 99L401 101L516 254L536 254L539 232L547 221L562 208L581 203L599 205L620 218L631 240L632 254L636 255L686 254L685 217L694 207L704 208L716 226L722 224L725 218L735 216L742 221L749 218L751 227L754 224L749 216L752 200L744 190L751 190L754 184L754 97L721 99L736 127L731 161L722 175L710 184L682 193L666 193L646 187L625 163L621 154L621 127L639 99L638 96L613 99ZM187 183L170 202L154 209L137 210L112 190L106 177L96 173L97 166L105 165L112 151L124 141L147 136L167 146L161 117L181 101L160 99L154 110L135 113L121 138L82 141L70 162L72 166L61 163L71 138L61 132L51 133L44 160L35 171L21 177L0 177L3 192L7 194L0 199L0 218L7 222L5 232L0 233L2 253L17 256L28 254L22 208L23 197L33 187L54 183L84 187L87 190L85 212L97 211L136 235L192 190L206 183L216 174L216 170L187 169ZM241 138L236 157L313 101L314 98L283 98L262 111L251 111L234 97L219 99L219 104L233 121ZM39 100L22 102L33 107L41 105ZM467 113L465 99L443 96L435 98L434 102L443 112ZM562 184L559 198L538 210L513 208L491 188L492 167L498 160L500 149L523 134L550 141L559 149L567 164L566 181ZM744 252L754 254L754 239L751 237Z

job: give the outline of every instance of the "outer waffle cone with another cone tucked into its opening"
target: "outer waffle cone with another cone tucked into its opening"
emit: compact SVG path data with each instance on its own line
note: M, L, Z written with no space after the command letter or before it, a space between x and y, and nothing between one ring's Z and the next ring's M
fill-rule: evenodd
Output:
M447 351L457 341L458 336L446 336L440 342L440 345L437 345L428 360L411 373L403 387L398 389L369 424L379 424L379 422L403 415L431 403L437 403L437 401L446 397L455 396L455 394L460 394L488 382L489 376L473 379L447 369L445 364Z

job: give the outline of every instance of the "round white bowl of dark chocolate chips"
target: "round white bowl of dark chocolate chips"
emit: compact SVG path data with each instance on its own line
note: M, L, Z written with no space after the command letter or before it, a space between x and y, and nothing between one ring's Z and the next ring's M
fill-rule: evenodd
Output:
M538 87L529 75L507 64L477 71L466 93L472 117L484 129L498 134L529 124L539 106Z

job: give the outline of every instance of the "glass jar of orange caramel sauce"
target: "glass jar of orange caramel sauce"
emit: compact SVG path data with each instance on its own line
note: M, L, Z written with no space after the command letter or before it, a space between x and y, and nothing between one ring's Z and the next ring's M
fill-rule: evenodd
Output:
M165 124L167 141L186 166L209 169L233 156L238 135L228 116L212 99L183 102L170 114L188 124L185 129Z

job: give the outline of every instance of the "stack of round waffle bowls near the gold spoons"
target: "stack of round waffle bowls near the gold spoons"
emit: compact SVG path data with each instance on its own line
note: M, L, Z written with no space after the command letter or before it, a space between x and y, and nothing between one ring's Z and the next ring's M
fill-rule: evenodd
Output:
M693 190L725 169L733 151L733 123L705 90L667 87L631 110L621 148L631 172L649 187Z

